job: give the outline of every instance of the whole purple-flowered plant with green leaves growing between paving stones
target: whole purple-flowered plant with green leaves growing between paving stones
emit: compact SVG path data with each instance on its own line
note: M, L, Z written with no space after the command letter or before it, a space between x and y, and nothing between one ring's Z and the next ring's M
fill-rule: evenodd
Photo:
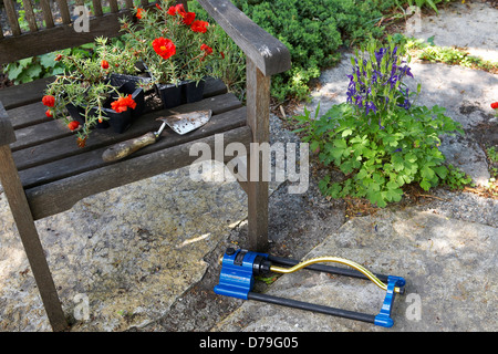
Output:
M311 150L319 152L320 162L344 174L341 181L325 176L319 184L323 194L366 197L385 207L401 200L407 184L417 183L428 190L454 178L456 169L444 165L445 156L438 149L439 136L464 132L445 115L444 107L415 104L421 85L411 93L403 83L413 77L404 54L391 38L381 48L371 40L352 59L346 102L320 118L318 111L313 118L308 110L295 117L303 126L297 132L304 134Z

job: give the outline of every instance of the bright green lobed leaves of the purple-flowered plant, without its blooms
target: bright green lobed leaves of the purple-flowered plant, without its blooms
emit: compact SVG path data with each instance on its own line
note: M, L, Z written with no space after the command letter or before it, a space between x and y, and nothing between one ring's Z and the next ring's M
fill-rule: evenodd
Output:
M373 70L377 60L384 62L373 55L364 66ZM351 77L354 82L354 75ZM397 86L391 88L385 96L392 96ZM403 187L408 184L416 183L429 190L439 184L460 188L470 181L455 167L444 165L439 136L464 134L460 124L446 116L445 111L437 105L427 108L398 104L365 112L350 102L334 105L320 118L318 111L312 118L305 110L295 117L302 126L297 132L303 133L303 140L310 143L312 152L320 152L322 164L334 165L344 174L342 181L325 176L319 184L323 194L333 198L367 198L385 207L387 202L400 201Z

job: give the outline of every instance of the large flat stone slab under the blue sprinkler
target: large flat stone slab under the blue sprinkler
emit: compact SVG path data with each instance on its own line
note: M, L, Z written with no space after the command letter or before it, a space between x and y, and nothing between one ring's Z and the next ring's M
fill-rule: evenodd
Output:
M436 210L383 210L354 218L304 259L342 257L373 272L405 278L406 293L395 299L392 329L247 301L214 331L496 331L497 238L495 227ZM374 315L385 296L370 281L309 270L282 275L267 293Z

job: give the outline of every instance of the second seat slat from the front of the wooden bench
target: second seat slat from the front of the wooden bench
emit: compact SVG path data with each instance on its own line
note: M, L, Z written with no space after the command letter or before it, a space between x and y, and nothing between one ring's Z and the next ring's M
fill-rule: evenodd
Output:
M214 114L222 114L241 107L240 102L232 94L204 100L203 104L189 104L175 108L175 111L158 111L141 116L126 132L117 134L113 132L102 132L95 129L86 143L85 148L76 146L75 137L70 135L55 140L44 143L40 146L28 147L14 152L14 160L18 169L25 169L32 166L46 164L68 156L83 154L91 149L116 144L129 138L141 136L148 132L157 131L160 125L156 122L159 116L168 114L187 113L199 110L212 110ZM66 131L69 132L69 131ZM166 133L165 133L166 134Z

